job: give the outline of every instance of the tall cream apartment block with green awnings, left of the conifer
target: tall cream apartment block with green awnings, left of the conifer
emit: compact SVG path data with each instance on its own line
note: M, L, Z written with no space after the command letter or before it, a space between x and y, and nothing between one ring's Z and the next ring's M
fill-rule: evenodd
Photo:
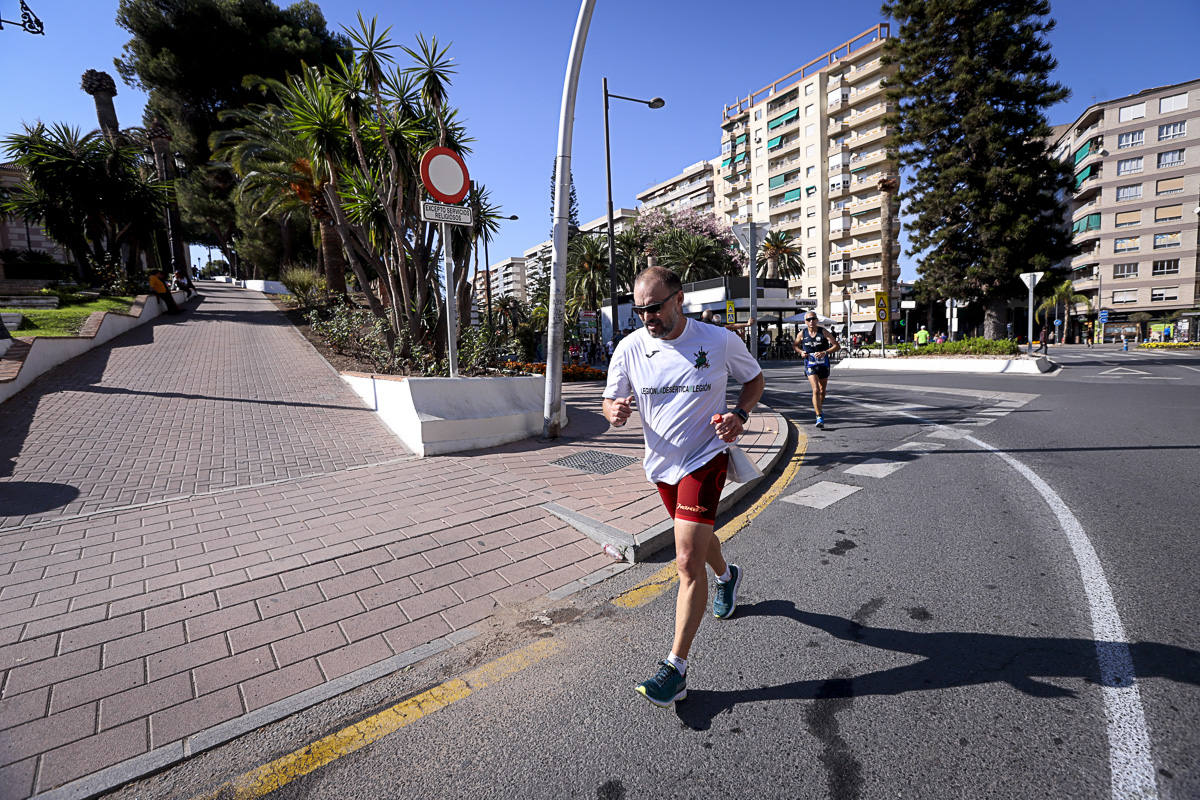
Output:
M883 275L880 181L899 170L881 82L888 25L878 24L758 91L726 106L716 168L716 213L731 224L769 222L800 243L793 296L852 331L874 327L875 291L896 297L899 209L893 200L892 273ZM840 327L841 325L839 325Z

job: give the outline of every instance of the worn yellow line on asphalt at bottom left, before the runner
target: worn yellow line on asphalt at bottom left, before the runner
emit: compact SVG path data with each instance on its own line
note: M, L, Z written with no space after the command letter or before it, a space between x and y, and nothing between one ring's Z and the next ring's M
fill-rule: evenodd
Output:
M395 733L434 711L457 703L470 696L472 692L497 684L509 675L533 666L560 648L562 644L556 639L538 639L533 644L500 656L496 661L473 669L461 678L439 684L416 697L410 697L403 703L397 703L389 709L384 709L361 722L342 728L269 764L239 775L229 782L218 786L212 792L197 795L193 800L216 800L216 798L221 798L222 800L252 800L253 798L270 794L298 777L302 777L342 756L348 756L356 750L361 750L390 733Z

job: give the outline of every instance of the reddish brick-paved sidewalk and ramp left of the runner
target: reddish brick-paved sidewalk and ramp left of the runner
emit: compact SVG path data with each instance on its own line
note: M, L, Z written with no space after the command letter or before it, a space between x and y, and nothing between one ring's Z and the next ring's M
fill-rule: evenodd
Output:
M78 491L0 517L0 798L112 786L611 572L546 504L630 533L666 521L640 463L551 463L640 459L600 385L565 387L551 446L414 459L280 319L209 288L0 405L17 437L0 498ZM778 425L756 416L743 444Z

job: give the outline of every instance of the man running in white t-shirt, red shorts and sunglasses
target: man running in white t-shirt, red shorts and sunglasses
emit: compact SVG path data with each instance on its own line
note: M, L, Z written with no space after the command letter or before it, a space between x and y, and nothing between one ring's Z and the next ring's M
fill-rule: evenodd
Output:
M653 678L636 691L666 706L688 696L688 652L708 603L708 575L716 575L713 616L728 619L738 602L742 570L726 564L713 533L725 486L726 452L762 397L757 362L734 333L690 320L683 284L671 270L652 266L634 283L634 311L643 327L617 345L608 365L604 414L625 425L637 399L646 437L646 476L674 519L674 640ZM742 384L733 409L725 407L728 377Z

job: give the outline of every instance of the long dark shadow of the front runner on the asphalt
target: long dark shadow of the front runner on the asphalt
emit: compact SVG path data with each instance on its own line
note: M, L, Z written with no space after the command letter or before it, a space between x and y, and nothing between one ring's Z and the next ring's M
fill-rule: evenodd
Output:
M787 600L767 600L738 607L738 616L782 616L809 625L839 639L906 652L922 660L856 678L812 678L779 686L734 691L689 690L676 703L679 720L692 730L707 730L713 718L742 703L820 700L872 694L904 694L984 684L1008 684L1030 697L1075 697L1073 690L1044 679L1082 679L1102 682L1097 652L1120 649L1110 642L1061 637L1021 637L995 633L919 633L868 627L851 619L804 612ZM1171 644L1138 642L1128 645L1136 676L1162 678L1200 685L1200 652ZM1121 680L1110 684L1127 686Z

